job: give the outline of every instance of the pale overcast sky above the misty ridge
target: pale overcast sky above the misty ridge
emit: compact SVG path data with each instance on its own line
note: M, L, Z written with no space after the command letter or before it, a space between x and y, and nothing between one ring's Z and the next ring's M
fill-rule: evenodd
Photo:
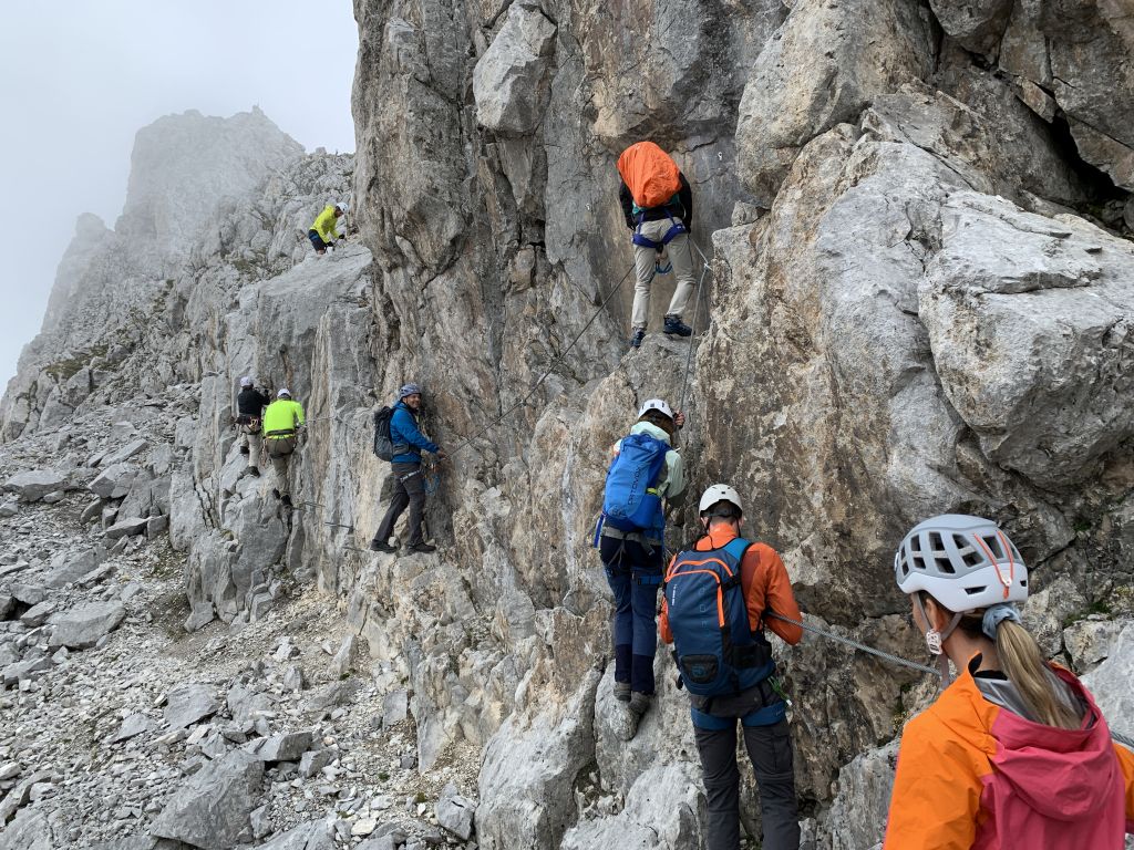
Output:
M39 333L83 212L122 210L134 134L259 105L308 151L354 151L349 0L5 3L0 26L0 393Z

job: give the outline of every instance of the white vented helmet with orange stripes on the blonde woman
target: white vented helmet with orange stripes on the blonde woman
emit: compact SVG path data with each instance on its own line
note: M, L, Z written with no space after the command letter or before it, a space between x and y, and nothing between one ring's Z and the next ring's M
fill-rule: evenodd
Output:
M996 522L945 513L919 522L894 555L898 589L925 590L955 613L1027 598L1027 567Z

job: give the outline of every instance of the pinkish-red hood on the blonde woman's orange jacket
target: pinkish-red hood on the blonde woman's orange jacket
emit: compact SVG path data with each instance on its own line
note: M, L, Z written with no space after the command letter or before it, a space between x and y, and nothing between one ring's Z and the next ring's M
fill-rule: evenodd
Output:
M989 729L996 740L991 760L998 779L1030 808L1055 821L1082 823L1109 804L1100 789L1112 787L1119 765L1090 692L1068 671L1053 672L1085 706L1080 729L1035 723L1001 707ZM975 686L973 690L983 700Z

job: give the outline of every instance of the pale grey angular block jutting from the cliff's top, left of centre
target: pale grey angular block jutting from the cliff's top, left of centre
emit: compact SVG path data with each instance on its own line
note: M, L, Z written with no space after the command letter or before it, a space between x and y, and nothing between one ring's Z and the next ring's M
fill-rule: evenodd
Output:
M528 2L513 3L473 69L476 120L501 135L531 133L542 119L556 25Z

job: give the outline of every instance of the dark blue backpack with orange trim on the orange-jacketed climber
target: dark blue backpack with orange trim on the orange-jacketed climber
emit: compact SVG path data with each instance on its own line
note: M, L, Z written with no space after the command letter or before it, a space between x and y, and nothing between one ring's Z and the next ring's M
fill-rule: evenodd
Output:
M771 645L748 626L741 561L751 544L687 551L666 571L666 607L682 682L702 697L739 694L776 669Z

